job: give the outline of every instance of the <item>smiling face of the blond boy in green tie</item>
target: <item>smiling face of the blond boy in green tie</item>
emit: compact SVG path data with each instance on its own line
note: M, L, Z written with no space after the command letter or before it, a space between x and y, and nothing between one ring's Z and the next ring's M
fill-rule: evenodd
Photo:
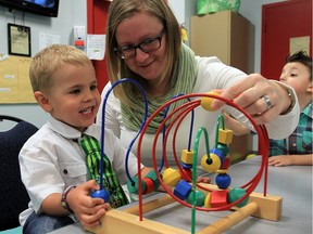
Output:
M100 106L97 83L92 65L63 64L53 75L49 93L45 94L43 109L83 132L95 122Z

